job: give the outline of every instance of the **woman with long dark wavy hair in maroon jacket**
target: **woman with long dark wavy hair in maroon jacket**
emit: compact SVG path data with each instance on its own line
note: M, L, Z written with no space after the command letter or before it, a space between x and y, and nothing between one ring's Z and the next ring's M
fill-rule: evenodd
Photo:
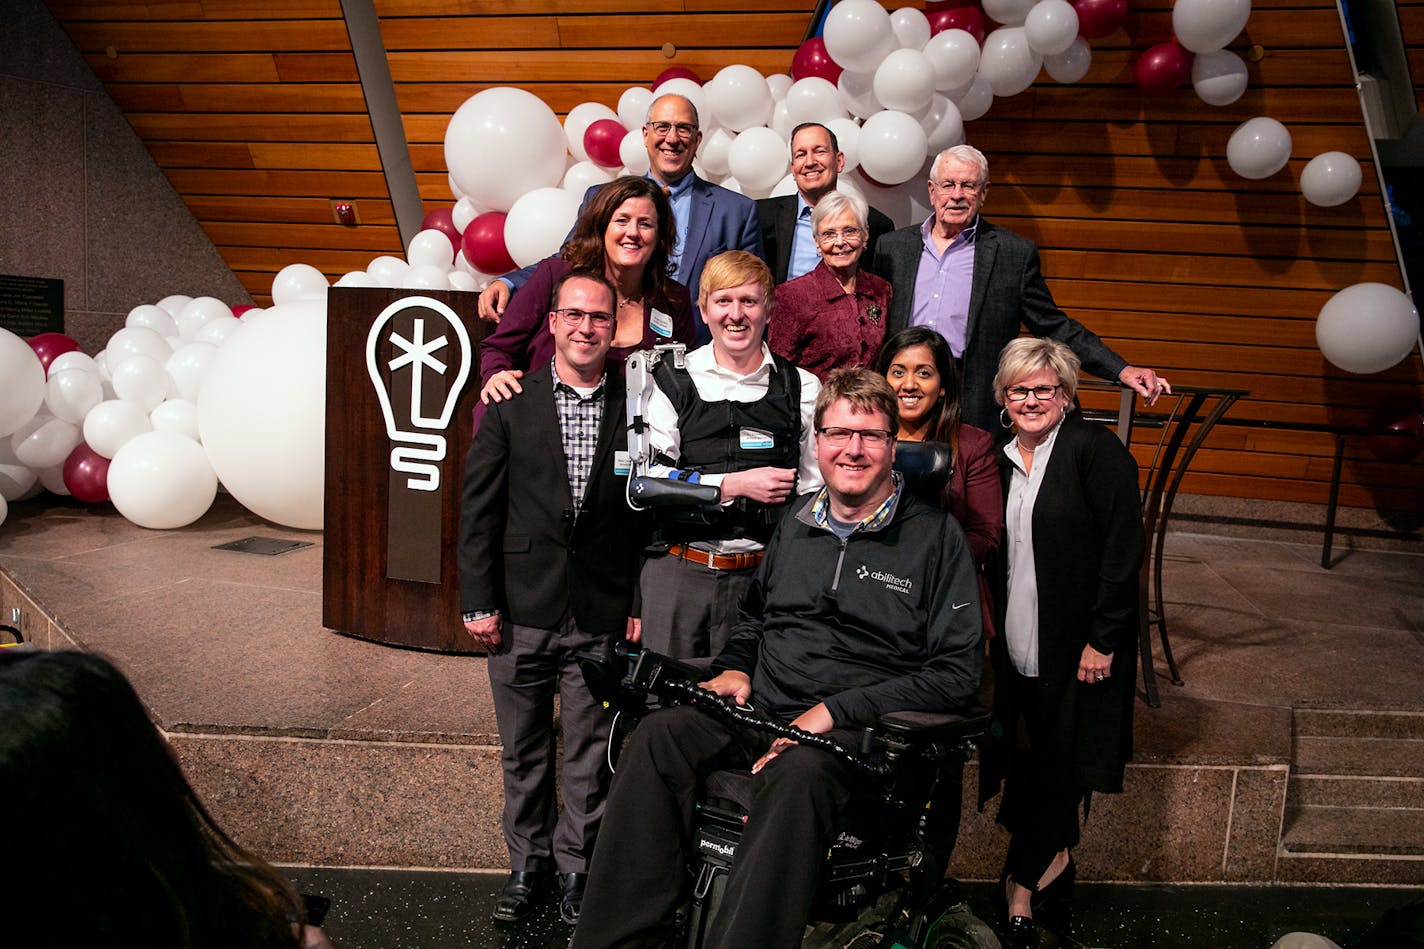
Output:
M520 376L554 356L548 309L554 285L570 271L602 274L618 291L609 365L659 342L696 339L688 288L668 275L676 242L672 205L649 178L609 181L588 202L558 256L540 261L510 299L498 328L480 346L481 402L520 392Z

